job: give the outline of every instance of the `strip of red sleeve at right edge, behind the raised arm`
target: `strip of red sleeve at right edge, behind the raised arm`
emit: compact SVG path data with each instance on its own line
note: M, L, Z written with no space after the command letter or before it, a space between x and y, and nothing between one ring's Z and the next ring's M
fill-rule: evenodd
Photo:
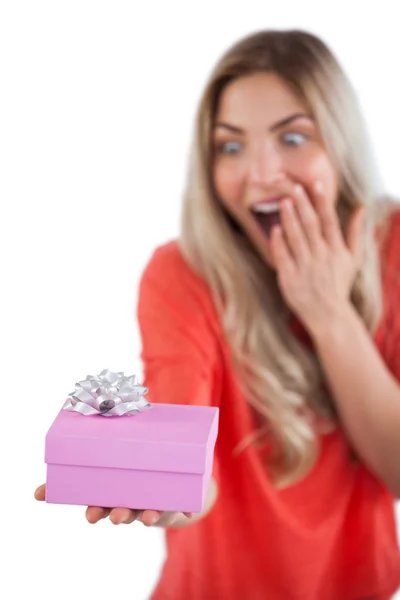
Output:
M387 306L385 360L390 371L400 382L400 209L391 216L382 266Z

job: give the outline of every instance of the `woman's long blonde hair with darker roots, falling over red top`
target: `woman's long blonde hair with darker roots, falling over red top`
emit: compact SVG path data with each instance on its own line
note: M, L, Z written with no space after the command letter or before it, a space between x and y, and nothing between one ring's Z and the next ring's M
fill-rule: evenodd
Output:
M356 95L320 39L303 31L263 31L240 40L222 56L198 109L180 246L211 289L239 384L264 423L258 434L268 434L273 441L271 477L285 486L315 464L316 419L328 428L336 419L317 357L290 329L290 312L276 274L234 226L213 189L211 139L221 93L228 83L255 72L279 75L316 119L340 174L337 206L343 231L352 210L367 206L365 260L351 301L371 333L382 311L374 231L386 203L378 199L380 184Z

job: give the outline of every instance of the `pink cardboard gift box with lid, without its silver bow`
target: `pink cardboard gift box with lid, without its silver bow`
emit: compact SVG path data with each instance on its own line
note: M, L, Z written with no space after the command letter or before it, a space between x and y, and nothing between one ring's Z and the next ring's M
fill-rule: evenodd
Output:
M201 512L218 417L173 404L121 417L62 409L46 435L46 501Z

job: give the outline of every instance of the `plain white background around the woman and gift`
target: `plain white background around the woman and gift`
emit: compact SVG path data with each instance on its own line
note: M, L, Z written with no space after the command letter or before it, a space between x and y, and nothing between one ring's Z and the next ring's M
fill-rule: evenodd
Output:
M90 526L82 507L35 502L46 431L78 379L106 367L140 374L138 279L155 246L177 234L196 103L239 36L269 27L320 34L361 96L384 182L399 193L398 7L0 7L0 597L145 600L162 533Z

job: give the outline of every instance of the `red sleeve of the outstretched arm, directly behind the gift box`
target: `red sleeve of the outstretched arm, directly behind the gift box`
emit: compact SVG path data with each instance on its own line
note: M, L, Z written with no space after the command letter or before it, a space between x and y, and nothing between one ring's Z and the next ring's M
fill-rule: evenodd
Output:
M139 286L138 321L149 402L217 406L215 318L177 245L162 246L150 259Z

